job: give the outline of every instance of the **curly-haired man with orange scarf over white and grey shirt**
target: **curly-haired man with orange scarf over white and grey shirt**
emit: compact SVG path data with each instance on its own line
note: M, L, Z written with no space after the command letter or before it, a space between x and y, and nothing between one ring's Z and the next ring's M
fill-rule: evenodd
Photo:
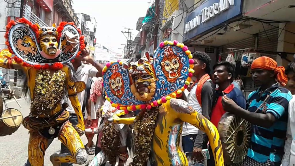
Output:
M193 54L194 76L198 82L191 86L188 103L198 113L209 119L209 114L215 100L214 84L210 79L211 58L204 52L196 51ZM204 137L206 134L189 123L183 123L182 130L182 147L186 153L189 162L191 158L196 158L198 162L204 160L202 154ZM204 144L207 149L207 143ZM193 153L191 153L193 152Z

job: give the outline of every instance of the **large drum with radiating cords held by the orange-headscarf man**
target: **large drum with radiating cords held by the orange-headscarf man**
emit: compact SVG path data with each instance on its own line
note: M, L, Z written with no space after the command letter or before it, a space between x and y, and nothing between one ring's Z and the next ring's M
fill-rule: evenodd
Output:
M251 139L250 123L227 112L220 119L217 129L221 139L225 165L242 164Z

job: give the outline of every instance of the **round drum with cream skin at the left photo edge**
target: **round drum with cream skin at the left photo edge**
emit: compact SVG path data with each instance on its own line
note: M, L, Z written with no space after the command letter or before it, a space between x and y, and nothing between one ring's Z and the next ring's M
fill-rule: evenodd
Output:
M0 136L11 135L22 124L22 113L14 108L3 111L0 118Z

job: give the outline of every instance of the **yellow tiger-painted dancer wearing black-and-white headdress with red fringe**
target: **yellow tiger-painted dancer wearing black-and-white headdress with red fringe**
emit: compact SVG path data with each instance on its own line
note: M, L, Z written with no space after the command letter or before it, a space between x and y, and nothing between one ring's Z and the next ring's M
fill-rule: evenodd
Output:
M44 154L50 139L58 138L70 149L67 154L53 154L54 166L70 162L83 164L87 160L86 150L80 139L85 130L77 93L85 89L83 82L74 82L67 62L76 56L87 54L81 31L74 23L61 22L59 27L39 27L26 19L6 26L6 45L2 50L0 66L7 69L22 69L27 76L30 92L31 113L23 120L30 131L28 146L32 166L44 165ZM12 56L15 55L15 56ZM80 55L82 56L82 55ZM68 121L67 104L61 104L68 95L78 124Z

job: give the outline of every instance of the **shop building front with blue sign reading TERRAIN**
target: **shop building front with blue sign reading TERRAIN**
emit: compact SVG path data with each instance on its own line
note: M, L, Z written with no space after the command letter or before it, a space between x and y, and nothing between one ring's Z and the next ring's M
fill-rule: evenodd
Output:
M216 61L231 53L236 59L236 75L242 77L245 96L256 87L250 69L238 67L245 52L268 56L286 66L295 53L295 11L293 0L207 0L187 13L183 43L194 52L205 48ZM207 50L207 51L206 51Z

